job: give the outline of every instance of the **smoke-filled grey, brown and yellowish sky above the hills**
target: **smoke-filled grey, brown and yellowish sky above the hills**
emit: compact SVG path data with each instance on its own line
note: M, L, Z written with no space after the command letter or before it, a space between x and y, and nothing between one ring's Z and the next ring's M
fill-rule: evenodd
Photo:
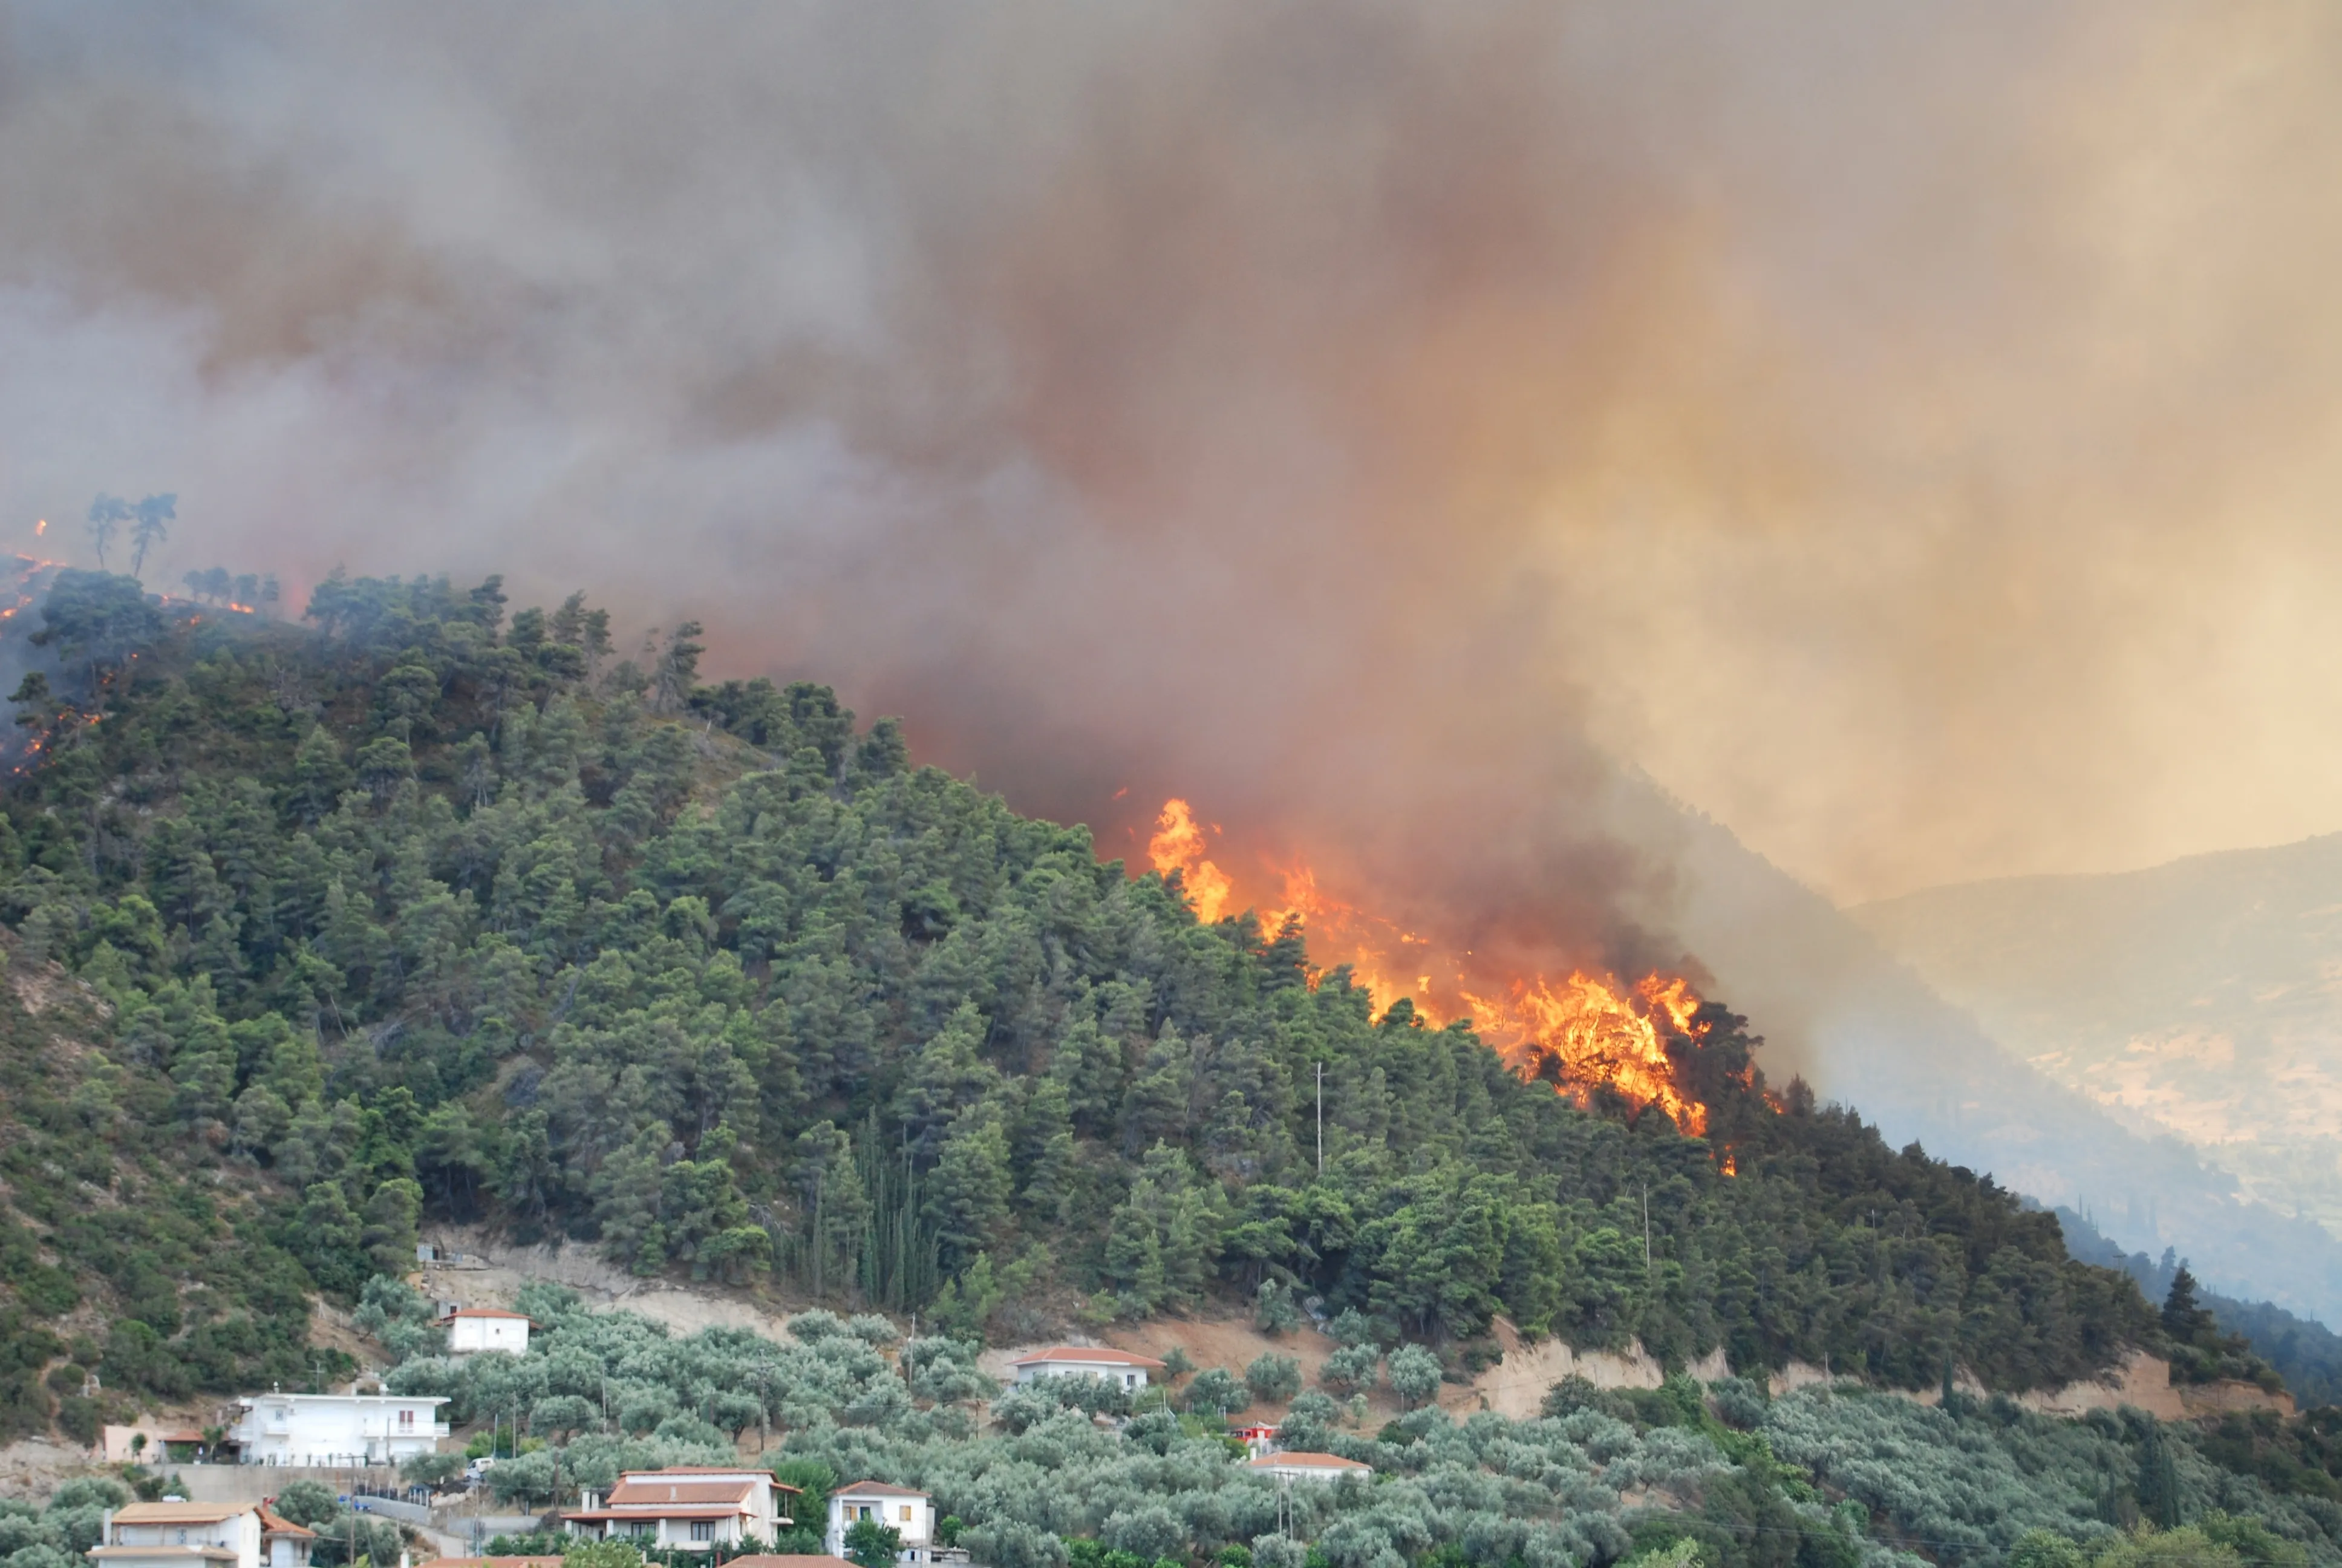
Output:
M1583 736L1843 900L2129 867L2342 827L2337 155L2316 2L0 0L0 544L1562 921Z

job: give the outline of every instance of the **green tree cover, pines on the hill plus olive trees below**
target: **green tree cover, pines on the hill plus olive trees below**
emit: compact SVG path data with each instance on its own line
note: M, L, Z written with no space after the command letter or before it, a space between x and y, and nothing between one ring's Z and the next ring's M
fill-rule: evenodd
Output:
M1309 1390L1293 1420L1419 1477L1405 1507L1499 1519L1506 1486L1534 1479L1515 1502L1553 1519L1480 1540L1408 1523L1377 1491L1398 1512L1309 1561L2000 1561L2026 1528L2052 1533L2049 1561L2206 1509L2230 1535L2190 1549L2267 1559L2276 1538L2220 1523L2232 1509L2272 1519L2288 1561L2335 1554L2342 1465L2309 1423L2246 1430L2220 1458L2185 1432L2166 1453L2148 1418L1766 1399L1789 1362L1995 1392L2134 1348L2269 1373L2129 1275L2070 1261L2056 1219L1991 1179L1885 1146L1801 1083L1768 1095L1724 1005L1668 1041L1707 1137L1614 1095L1574 1104L1464 1027L1377 1010L1312 966L1302 928L1201 923L1176 877L1131 877L1082 827L913 766L897 724L860 724L824 687L700 682L698 635L616 659L583 598L513 614L497 579L335 577L300 621L56 579L12 633L30 673L0 816L9 1432L347 1373L309 1345L321 1291L363 1301L403 1385L536 1411L532 1432L586 1444L571 1486L778 1423L806 1463L960 1486L998 1563L1080 1547L1143 1568L1258 1535L1225 1498L1197 1500L1223 1488L1194 1472L1223 1448L1192 1413L1115 1437L1030 1395L993 1404L1007 1434L979 1444L970 1402L993 1390L974 1345L1194 1310L1290 1329L1312 1310L1349 1343L1349 1385L1389 1357L1393 1388L1436 1388L1494 1357L1504 1315L1576 1348L1639 1343L1677 1373L1721 1350L1738 1378L1564 1385L1543 1423L1419 1409L1379 1434ZM478 1388L506 1369L438 1359L389 1280L431 1219L860 1317L815 1315L799 1348L658 1350L639 1320L548 1296L553 1334L520 1383ZM911 1359L925 1383L881 1378L883 1315L913 1310L937 1331ZM672 1376L653 1366L667 1355ZM639 1395L632 1416L611 1380ZM1988 1523L1977 1498L1864 1470L1845 1448L1862 1423L1939 1451L1916 1460L1934 1472L1984 1465L1977 1498L2019 1484L2026 1444L2054 1451L2056 1491ZM1131 1441L1155 1481L1131 1481ZM1021 1453L1035 1444L1054 1458ZM520 1458L504 1484L529 1500L539 1467ZM1045 1519L984 1479L1019 1463L1108 1479ZM1129 1486L1159 1495L1112 1502ZM1637 1526L1618 1498L1644 1486L1707 1523ZM1279 1568L1304 1568L1286 1545Z

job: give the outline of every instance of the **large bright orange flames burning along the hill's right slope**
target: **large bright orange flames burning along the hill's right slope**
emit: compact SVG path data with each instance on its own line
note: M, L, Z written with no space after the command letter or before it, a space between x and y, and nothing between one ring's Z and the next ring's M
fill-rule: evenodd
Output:
M1148 839L1148 860L1180 886L1204 921L1239 909L1237 879L1211 860L1211 844L1185 799L1164 802ZM1670 1038L1698 1041L1700 996L1684 980L1646 975L1628 984L1616 975L1571 970L1508 975L1471 949L1443 952L1396 921L1340 902L1316 886L1304 863L1269 867L1281 902L1260 900L1260 926L1276 933L1302 921L1309 947L1326 966L1347 963L1384 1008L1401 996L1431 1024L1471 1020L1525 1078L1548 1078L1581 1104L1597 1085L1628 1104L1658 1106L1684 1132L1707 1132L1707 1106L1677 1085Z

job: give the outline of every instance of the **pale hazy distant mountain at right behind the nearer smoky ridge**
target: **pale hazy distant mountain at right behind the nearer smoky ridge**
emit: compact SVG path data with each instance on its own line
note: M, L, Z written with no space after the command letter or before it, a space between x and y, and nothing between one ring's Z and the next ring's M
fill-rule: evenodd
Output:
M1850 914L2049 1078L2342 1233L2342 834Z

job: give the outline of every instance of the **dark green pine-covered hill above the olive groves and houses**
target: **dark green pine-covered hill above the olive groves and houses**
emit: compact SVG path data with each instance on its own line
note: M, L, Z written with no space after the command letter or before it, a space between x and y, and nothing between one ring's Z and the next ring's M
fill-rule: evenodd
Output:
M126 1116L344 1298L445 1214L967 1331L1319 1296L1450 1357L1504 1313L1991 1388L2159 1336L1988 1179L1773 1109L1719 1005L1670 1029L1710 1139L1579 1109L822 687L700 684L696 626L614 663L494 579L288 626L66 574L42 614L5 914L169 1083Z

